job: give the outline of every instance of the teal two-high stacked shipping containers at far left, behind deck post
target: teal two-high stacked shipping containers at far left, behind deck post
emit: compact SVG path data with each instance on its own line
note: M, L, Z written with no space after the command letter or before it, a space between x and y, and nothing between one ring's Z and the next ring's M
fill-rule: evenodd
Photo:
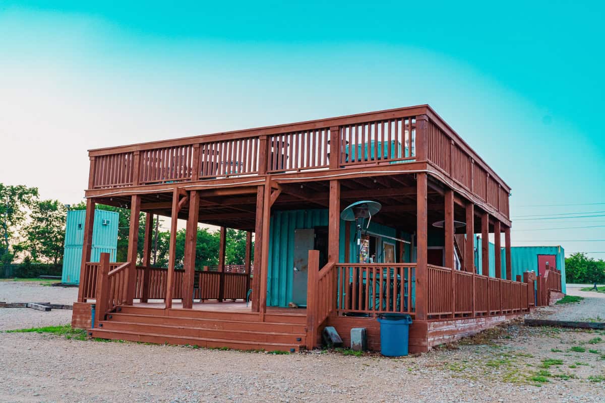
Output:
M67 212L63 271L61 274L61 282L64 284L80 283L85 220L86 210L71 210ZM91 262L99 262L101 253L103 252L110 254L111 262L116 261L118 222L119 214L114 211L94 211Z

